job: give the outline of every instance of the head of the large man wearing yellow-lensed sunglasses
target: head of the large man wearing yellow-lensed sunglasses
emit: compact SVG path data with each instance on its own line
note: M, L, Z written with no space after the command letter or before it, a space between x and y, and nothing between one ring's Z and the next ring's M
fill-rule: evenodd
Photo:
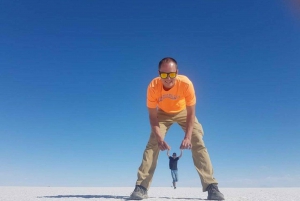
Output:
M171 57L163 58L158 64L158 73L164 88L172 88L175 84L175 78L178 74L176 60Z

